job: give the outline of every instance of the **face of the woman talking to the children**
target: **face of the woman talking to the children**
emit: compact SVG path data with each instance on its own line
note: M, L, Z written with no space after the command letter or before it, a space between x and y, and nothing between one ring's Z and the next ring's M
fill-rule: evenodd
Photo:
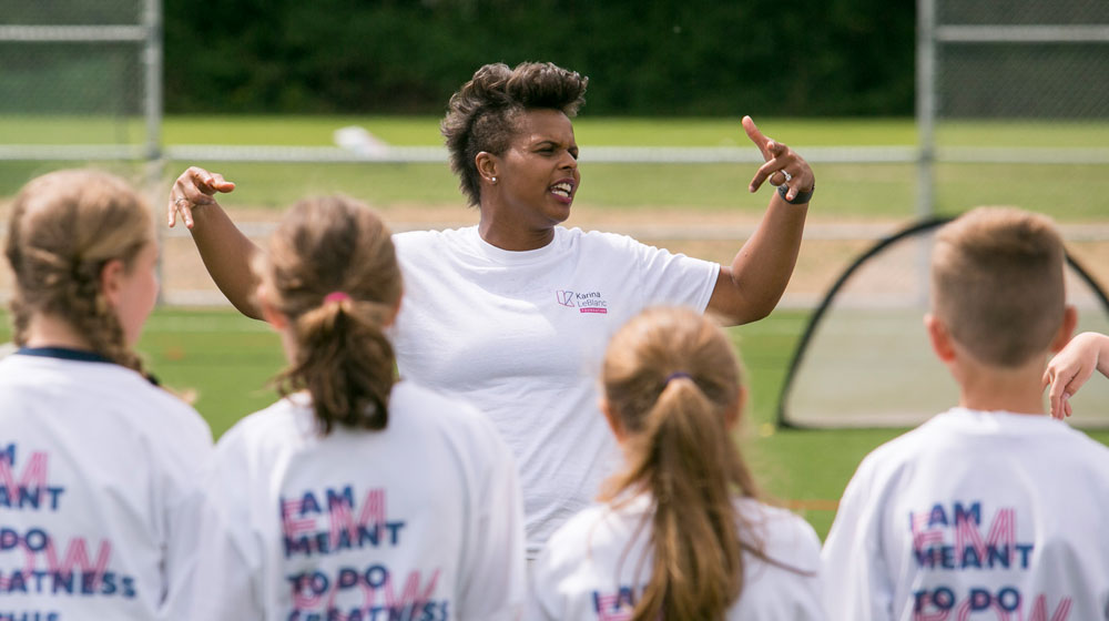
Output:
M529 228L549 228L570 216L581 183L573 125L561 111L528 110L516 130L497 157L497 210Z

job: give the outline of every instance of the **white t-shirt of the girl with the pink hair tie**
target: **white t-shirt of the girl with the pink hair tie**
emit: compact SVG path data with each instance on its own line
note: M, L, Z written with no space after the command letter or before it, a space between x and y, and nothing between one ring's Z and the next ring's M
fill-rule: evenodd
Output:
M385 429L317 429L296 394L220 438L181 619L516 619L519 483L485 417L403 381Z

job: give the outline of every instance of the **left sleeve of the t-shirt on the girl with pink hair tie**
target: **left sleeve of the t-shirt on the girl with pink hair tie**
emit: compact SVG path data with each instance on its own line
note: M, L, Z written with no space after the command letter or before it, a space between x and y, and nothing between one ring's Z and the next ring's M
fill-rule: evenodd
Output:
M228 432L228 435L231 435ZM169 619L262 619L261 554L252 549L245 447L221 439L183 520L195 533L195 562Z

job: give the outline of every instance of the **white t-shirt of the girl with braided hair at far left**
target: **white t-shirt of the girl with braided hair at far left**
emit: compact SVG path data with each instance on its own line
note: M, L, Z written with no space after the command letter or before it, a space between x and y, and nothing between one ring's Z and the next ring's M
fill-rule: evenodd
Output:
M207 425L133 370L32 352L0 360L0 619L169 619Z

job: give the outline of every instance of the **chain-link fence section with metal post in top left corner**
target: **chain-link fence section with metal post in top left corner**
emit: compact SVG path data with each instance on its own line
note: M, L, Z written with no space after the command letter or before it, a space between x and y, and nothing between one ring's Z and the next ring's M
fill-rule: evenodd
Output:
M0 0L0 157L157 156L159 10L150 0Z

